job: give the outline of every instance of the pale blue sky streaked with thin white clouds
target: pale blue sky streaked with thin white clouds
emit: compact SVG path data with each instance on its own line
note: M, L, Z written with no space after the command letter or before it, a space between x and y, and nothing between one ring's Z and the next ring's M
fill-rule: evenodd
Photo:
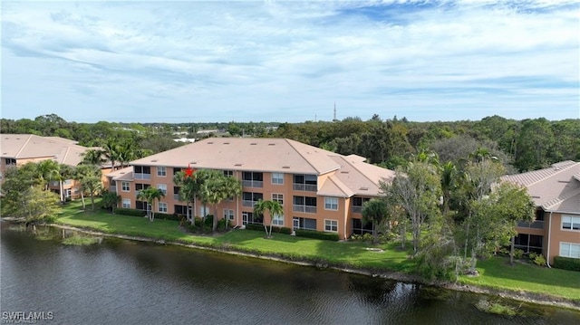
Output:
M580 119L577 1L2 2L5 119Z

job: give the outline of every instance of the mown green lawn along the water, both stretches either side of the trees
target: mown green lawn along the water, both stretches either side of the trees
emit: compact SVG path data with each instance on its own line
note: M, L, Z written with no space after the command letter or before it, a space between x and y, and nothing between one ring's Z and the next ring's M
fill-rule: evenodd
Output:
M288 234L275 234L273 238L266 239L264 233L250 230L236 230L214 236L193 235L183 232L176 221L155 220L151 223L143 217L111 215L102 210L91 212L90 207L87 208L87 211L82 211L79 202L64 206L56 224L104 234L124 234L372 272L399 272L410 276L414 266L414 261L408 258L409 253L399 250L396 244L371 247L364 243L336 243ZM369 248L380 248L382 251L376 252ZM532 301L538 300L534 295L542 296L544 301L546 297L554 297L554 301L565 299L580 308L580 272L548 269L528 263L511 266L502 257L478 262L478 271L478 277L460 277L459 285L488 288L491 292L516 292L527 295L524 298Z

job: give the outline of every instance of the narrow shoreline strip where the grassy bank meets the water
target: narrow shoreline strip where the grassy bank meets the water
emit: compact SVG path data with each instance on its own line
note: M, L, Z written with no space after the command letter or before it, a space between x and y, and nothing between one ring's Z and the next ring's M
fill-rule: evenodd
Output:
M328 269L334 270L338 272L349 272L354 274L361 274L371 277L380 277L385 280L391 281L399 281L399 282L409 282L409 283L419 283L427 286L438 287L442 289L452 290L452 291L459 291L459 292L472 292L472 293L479 293L479 294L488 294L492 296L498 296L504 299L510 299L514 301L524 301L528 303L535 303L539 305L546 305L546 306L553 306L559 308L570 309L574 311L580 311L580 301L571 301L565 298L555 297L551 295L546 295L542 293L536 292L517 292L511 290L499 290L499 289L490 289L487 287L480 287L474 286L469 284L460 284L460 283L452 283L452 282L427 282L424 279L421 279L420 276L417 275L410 275L404 274L401 272L389 272L389 271L375 271L372 270L365 270L365 269L357 269L353 267L345 267L345 266L337 266L337 265L328 265L328 264L320 264L320 263L313 263L307 261L294 261L285 259L282 257L274 256L274 255L267 255L267 254L256 254L256 253L247 253L238 251L232 248L225 248L225 247L211 247L211 246L204 246L199 244L184 244L179 242L166 242L164 240L153 239L150 237L140 237L140 236L130 236L126 234L107 234L102 233L99 231L94 231L91 229L79 228L74 227L71 225L58 225L58 224L49 224L51 226L65 229L65 230L73 230L83 234L91 234L91 235L98 235L103 237L111 237L111 238L118 238L124 240L131 240L137 242L145 242L145 243L154 243L154 244L171 244L177 245L192 249L198 250L205 250L210 252L217 252L217 253L228 253L231 255L237 256L244 256L244 257L251 257L251 258L258 258L267 261L274 261L280 263L291 263L295 265L301 266L311 266L316 267L319 269Z

